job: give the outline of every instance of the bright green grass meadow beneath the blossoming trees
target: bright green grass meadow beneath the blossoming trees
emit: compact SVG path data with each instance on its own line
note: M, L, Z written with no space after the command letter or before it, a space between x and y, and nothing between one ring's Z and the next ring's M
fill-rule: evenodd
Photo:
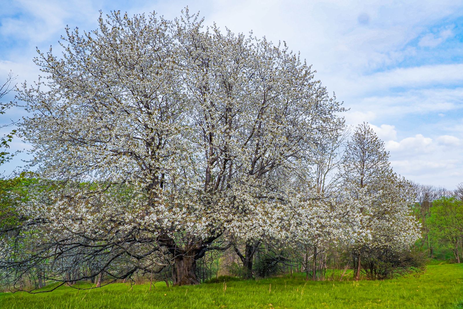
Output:
M5 309L154 308L463 308L463 264L430 265L419 277L306 282L301 275L167 288L157 283L60 287L49 293L1 293Z

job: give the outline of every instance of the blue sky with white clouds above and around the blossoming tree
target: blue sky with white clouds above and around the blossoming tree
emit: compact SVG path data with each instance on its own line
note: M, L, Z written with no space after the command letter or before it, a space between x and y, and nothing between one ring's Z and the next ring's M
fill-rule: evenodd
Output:
M361 2L0 0L0 81L10 70L35 80L35 47L56 46L66 25L94 30L99 10L173 19L188 5L206 25L286 41L350 108L348 124L373 126L396 172L454 189L463 182L463 2ZM22 115L14 109L0 123Z

